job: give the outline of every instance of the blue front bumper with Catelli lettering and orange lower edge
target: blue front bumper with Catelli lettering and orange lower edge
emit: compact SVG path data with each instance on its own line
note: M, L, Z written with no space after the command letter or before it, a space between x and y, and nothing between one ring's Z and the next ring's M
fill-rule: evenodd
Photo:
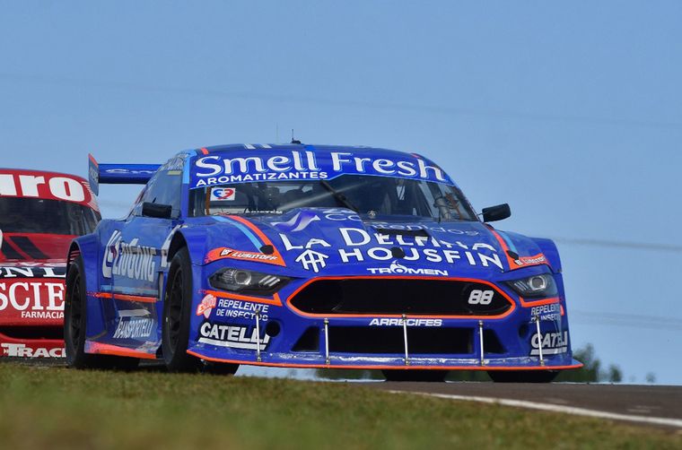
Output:
M325 316L292 307L295 289L269 299L200 290L188 353L212 361L288 368L581 367L572 356L563 298L511 299L505 314L490 317Z

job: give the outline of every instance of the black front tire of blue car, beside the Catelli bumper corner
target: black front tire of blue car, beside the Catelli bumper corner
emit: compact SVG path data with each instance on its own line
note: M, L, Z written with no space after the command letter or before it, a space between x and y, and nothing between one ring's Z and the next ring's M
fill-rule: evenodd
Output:
M192 307L192 264L187 247L170 261L163 298L162 352L170 372L196 372L200 360L188 355L189 320Z

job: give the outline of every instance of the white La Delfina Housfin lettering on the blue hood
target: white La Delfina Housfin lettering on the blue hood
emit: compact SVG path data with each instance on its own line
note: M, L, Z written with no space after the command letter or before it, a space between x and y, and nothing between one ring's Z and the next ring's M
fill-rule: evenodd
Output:
M399 246L405 252L403 261L417 261L427 263L469 264L473 266L494 266L503 270L502 260L497 254L495 247L484 242L467 245L462 242L446 242L426 236L389 236L380 233L370 233L359 228L339 229L344 246L336 248L341 263L361 263L366 261L390 261L395 259L391 247ZM309 238L305 243L294 244L290 236L283 233L279 237L284 243L284 249L303 250L296 262L301 263L305 270L319 272L319 268L326 265L327 253L313 250L319 247L332 247L325 239ZM377 268L379 271L388 271L390 268ZM442 273L430 273L442 274Z

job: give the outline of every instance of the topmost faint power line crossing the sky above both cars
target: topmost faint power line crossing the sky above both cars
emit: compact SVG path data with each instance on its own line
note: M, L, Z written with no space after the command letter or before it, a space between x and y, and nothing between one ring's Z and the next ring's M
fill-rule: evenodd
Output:
M435 114L469 116L469 117L503 117L523 120L551 121L551 122L573 122L584 124L599 125L619 125L619 126L641 126L653 128L682 128L681 122L665 122L656 120L627 119L613 117L590 117L580 115L561 115L561 114L540 114L526 111L514 111L505 109L477 109L477 108L456 108L444 105L424 105L419 103L407 102L381 102L366 100L339 100L319 97L309 97L290 94L274 94L269 92L246 92L246 91L221 91L197 88L187 88L180 86L158 86L147 85L136 82L116 82L101 81L90 79L76 79L69 77L58 77L52 75L36 74L11 74L0 73L0 78L19 82L42 82L50 84L63 84L75 87L97 86L101 88L127 89L134 91L156 91L164 93L177 93L186 95L201 95L209 97L227 97L232 99L244 100L267 100L283 103L305 103L319 104L328 106L359 107L359 108L380 108L380 109L401 109L414 110Z

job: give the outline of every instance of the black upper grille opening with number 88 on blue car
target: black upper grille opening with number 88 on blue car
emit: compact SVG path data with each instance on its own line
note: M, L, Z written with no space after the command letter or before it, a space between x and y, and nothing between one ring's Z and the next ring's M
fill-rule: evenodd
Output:
M475 290L481 292L472 294ZM500 316L512 306L482 282L418 278L318 279L297 292L290 304L321 316Z

